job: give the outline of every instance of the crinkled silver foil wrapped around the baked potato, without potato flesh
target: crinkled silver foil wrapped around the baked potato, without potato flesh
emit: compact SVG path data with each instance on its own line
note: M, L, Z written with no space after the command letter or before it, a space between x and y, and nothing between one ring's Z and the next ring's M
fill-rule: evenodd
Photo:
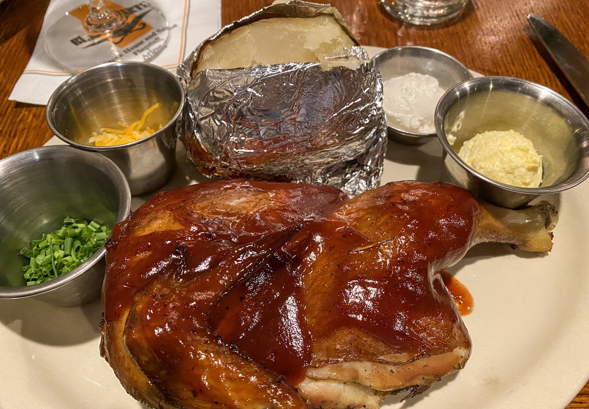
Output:
M332 6L273 4L221 29L178 68L187 97L178 134L203 174L328 184L352 195L378 185L387 141L382 80L362 48L349 50L365 61L356 70L306 62L191 75L201 47L234 28L319 14L333 15L353 38Z

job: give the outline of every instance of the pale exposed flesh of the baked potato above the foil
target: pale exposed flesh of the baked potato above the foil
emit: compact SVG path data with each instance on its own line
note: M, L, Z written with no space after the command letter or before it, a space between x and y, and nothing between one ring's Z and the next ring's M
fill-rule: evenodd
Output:
M320 62L325 68L355 69L356 58L342 55L355 42L330 15L270 18L253 22L204 45L196 71L249 68L288 62Z

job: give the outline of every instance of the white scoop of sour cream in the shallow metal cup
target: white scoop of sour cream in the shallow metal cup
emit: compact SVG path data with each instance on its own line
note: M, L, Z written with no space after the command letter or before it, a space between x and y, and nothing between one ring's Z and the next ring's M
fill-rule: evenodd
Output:
M431 75L409 72L383 81L383 108L387 123L422 134L435 133L434 111L444 89Z

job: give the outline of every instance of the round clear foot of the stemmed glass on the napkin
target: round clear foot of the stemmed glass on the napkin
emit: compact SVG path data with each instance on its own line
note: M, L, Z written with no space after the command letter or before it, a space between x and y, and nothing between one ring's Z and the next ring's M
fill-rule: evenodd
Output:
M150 2L89 0L58 18L44 40L51 61L75 73L103 62L150 61L169 36L166 17Z

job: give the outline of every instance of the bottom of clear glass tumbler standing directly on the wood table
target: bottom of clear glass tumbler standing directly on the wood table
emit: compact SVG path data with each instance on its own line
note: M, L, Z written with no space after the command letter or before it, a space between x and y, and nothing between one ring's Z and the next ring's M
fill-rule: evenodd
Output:
M441 24L464 10L469 0L379 0L393 17L416 25Z

